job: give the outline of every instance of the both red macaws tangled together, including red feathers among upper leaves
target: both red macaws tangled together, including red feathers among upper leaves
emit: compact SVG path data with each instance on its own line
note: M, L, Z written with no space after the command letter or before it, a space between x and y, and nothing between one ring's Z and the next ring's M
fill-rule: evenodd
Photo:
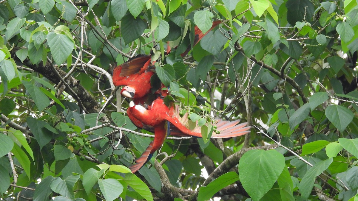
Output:
M210 30L220 23L221 21L214 21ZM195 40L193 44L197 44L207 33L202 33L195 26ZM189 51L190 46L181 56L184 57ZM174 108L164 104L162 98L168 94L168 90L159 89L154 94L151 94L152 86L150 78L155 74L152 69L154 63L155 61L151 61L151 55L137 55L115 67L112 74L113 84L115 86L124 85L125 87L122 88L121 94L124 97L132 99L127 109L128 117L135 126L154 132L154 140L149 144L142 156L135 160L136 164L130 167L133 173L145 165L151 156L153 156L153 153L163 145L169 133L174 136L202 137L200 127L196 126L194 129L189 129L188 113L180 117L178 106ZM164 88L164 85L161 85L161 88ZM149 98L153 97L154 101L151 105L147 107L142 106L146 104ZM213 133L211 138L229 138L249 133L251 127L247 126L247 123L238 124L239 122L240 120L230 122L215 119L215 122L212 124L220 134Z

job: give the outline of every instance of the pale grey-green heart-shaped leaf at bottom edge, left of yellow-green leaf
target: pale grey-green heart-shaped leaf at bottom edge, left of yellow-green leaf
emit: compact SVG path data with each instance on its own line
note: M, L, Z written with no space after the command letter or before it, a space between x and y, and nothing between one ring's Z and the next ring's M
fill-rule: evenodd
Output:
M116 179L98 179L98 186L107 201L115 200L123 192L122 184Z

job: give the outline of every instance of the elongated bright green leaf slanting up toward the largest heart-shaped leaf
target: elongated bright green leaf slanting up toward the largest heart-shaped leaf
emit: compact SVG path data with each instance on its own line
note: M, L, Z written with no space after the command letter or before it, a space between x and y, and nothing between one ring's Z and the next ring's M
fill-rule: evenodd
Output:
M239 180L236 172L227 172L220 175L218 178L210 182L207 186L202 186L199 189L198 200L209 200L222 188Z

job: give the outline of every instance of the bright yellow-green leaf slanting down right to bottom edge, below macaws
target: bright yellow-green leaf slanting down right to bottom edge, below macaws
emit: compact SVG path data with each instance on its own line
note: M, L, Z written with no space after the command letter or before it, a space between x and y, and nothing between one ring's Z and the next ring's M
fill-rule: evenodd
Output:
M139 195L141 195L145 200L153 201L153 196L148 186L133 173L126 173L123 181L125 181L130 187L139 193Z

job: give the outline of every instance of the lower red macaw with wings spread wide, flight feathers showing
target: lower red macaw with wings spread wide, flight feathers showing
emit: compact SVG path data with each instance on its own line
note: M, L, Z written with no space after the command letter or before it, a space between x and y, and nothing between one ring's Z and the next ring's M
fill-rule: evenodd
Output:
M180 117L178 108L176 111L174 111L173 107L169 108L160 97L154 100L151 106L148 106L148 109L141 105L135 105L131 101L130 107L127 109L128 112L142 125L154 128L154 141L149 144L142 156L136 160L136 164L130 167L133 173L144 166L153 153L161 147L169 132L176 136L202 137L200 127L190 130L184 125L188 121L187 113L183 117ZM237 137L250 132L249 129L251 127L247 126L247 122L238 124L240 120L230 122L216 119L215 121L213 126L217 127L217 131L220 134L213 133L211 138ZM175 128L170 128L173 126Z

